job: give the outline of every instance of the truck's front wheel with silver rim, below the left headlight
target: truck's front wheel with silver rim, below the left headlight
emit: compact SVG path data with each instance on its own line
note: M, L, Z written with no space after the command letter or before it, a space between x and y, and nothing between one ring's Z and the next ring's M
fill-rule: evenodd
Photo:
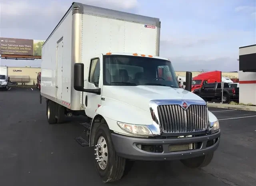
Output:
M100 147L97 146L97 144L100 144ZM107 124L101 124L96 129L94 146L96 171L102 178L102 181L107 183L120 180L124 174L126 159L116 155L111 139L111 133ZM102 153L100 153L100 150L102 150ZM100 157L99 155L103 155L103 157L100 158L100 162L96 159ZM106 163L104 163L104 161Z

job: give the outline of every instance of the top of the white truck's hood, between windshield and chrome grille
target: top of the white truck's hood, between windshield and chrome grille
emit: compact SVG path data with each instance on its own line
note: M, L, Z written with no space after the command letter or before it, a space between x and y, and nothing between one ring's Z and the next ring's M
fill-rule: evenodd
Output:
M104 86L102 96L149 111L149 101L154 99L200 100L203 99L185 89L164 86Z

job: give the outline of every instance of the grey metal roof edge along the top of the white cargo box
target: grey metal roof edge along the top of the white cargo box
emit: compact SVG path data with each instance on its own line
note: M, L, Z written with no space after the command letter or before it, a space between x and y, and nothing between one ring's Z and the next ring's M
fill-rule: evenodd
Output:
M110 19L116 19L116 20L123 20L127 22L134 22L134 23L141 23L145 24L145 27L148 26L148 28L160 28L161 22L159 18L152 18L148 16L142 16L138 14L131 14L128 12L121 12L117 10L111 10L107 8L101 8L97 6L90 6L87 4L82 4L78 2L73 2L66 14L62 17L60 22L57 24L57 26L54 28L50 36L46 39L44 44L48 41L48 39L52 36L52 34L55 32L55 30L58 28L58 26L63 22L63 20L68 16L69 12L72 11L72 14L88 14L92 16L99 16L99 17L105 17ZM43 44L43 46L44 46Z

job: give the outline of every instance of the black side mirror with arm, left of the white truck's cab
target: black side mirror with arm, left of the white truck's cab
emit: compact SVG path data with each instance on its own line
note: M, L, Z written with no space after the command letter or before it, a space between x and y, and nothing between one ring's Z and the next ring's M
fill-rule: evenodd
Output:
M95 93L100 95L101 89L84 89L84 63L74 64L74 89L76 91Z

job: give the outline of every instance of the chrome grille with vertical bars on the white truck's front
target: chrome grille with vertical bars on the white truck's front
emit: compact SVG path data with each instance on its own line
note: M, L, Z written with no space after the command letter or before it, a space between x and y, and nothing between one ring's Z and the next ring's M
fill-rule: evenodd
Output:
M206 105L190 105L186 110L180 105L159 105L157 111L164 133L205 131L208 126Z

